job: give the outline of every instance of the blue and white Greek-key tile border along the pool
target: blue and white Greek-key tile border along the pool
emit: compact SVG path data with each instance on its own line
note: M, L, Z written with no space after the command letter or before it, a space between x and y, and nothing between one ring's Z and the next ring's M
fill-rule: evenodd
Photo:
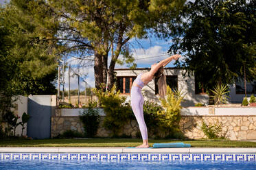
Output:
M256 154L54 154L0 153L0 160L200 160L256 161Z

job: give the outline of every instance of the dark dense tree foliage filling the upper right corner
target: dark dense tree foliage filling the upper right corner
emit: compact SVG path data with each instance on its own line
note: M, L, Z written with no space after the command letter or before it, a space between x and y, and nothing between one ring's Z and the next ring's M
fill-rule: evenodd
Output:
M246 80L256 79L255 5L245 0L190 1L170 26L175 30L170 53L186 53L177 64L194 72L202 88L243 79L244 65Z

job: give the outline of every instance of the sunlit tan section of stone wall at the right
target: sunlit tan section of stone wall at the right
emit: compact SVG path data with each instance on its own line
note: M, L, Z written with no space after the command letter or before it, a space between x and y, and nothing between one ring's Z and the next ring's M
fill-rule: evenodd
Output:
M188 138L207 138L200 127L202 121L207 125L222 125L222 133L231 140L256 139L256 116L183 116L180 127Z

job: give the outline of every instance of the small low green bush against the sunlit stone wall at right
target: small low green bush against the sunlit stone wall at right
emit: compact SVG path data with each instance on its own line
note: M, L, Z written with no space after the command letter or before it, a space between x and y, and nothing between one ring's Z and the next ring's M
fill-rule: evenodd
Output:
M210 139L225 138L225 135L222 133L222 125L220 123L216 123L214 125L207 125L207 123L203 121L201 130Z

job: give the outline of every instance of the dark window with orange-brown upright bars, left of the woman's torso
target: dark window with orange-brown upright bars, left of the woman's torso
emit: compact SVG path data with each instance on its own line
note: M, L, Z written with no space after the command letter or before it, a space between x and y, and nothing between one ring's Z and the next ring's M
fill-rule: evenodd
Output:
M117 77L117 90L122 94L129 94L132 88L132 82L136 77Z

